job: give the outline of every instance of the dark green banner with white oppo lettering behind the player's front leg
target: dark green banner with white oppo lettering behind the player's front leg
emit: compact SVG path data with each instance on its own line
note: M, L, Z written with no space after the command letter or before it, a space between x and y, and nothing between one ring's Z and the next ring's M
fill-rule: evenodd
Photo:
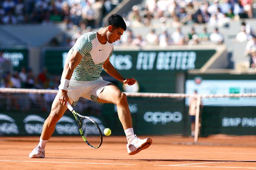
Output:
M188 135L188 107L184 102L184 99L128 98L134 132L137 135ZM113 135L124 134L115 105L104 104L102 114Z

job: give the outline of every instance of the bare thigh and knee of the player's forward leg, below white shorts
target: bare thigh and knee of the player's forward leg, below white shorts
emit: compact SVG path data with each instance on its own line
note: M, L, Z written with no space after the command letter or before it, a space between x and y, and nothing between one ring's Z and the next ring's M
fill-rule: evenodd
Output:
M99 102L116 104L123 95L124 93L116 85L110 83L100 92L97 99Z

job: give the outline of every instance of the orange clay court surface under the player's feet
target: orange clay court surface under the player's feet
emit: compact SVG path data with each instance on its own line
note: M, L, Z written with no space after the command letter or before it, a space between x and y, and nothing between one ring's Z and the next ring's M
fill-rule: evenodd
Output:
M38 144L34 140L0 138L1 170L246 170L256 169L256 147L199 146L154 143L129 156L125 137L103 138L100 148L92 149L81 140L49 140L45 158L29 158ZM120 139L118 139L120 138ZM52 138L51 138L52 139ZM109 140L111 139L111 140ZM112 141L118 141L113 143ZM256 141L254 141L256 142Z

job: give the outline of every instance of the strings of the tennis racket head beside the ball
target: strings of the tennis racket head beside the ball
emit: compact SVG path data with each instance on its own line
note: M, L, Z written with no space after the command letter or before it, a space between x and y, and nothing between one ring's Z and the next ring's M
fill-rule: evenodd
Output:
M102 135L97 125L88 118L81 119L81 130L86 137L87 142L94 148L100 146Z

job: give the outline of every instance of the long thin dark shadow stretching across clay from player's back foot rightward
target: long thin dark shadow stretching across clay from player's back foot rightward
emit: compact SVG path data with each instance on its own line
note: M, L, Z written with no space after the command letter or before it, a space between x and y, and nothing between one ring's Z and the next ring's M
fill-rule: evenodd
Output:
M170 161L170 162L256 162L255 161L237 161L237 160L200 160L200 159L106 159L106 158L56 158L45 157L49 159L70 159L70 160L115 160L115 161Z

